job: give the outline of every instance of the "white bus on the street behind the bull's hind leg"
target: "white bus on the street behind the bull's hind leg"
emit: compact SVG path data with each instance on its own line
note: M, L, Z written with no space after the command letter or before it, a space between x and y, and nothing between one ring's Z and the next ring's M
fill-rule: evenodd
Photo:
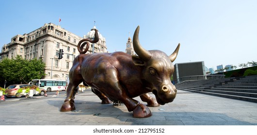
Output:
M64 91L67 81L66 80L53 80L53 79L35 79L30 82L39 88L52 91Z

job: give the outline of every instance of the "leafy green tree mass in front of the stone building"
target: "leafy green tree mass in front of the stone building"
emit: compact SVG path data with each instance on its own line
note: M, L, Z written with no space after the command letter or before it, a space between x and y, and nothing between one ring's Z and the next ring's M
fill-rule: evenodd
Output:
M18 55L15 59L4 58L0 62L0 81L6 80L9 85L29 83L32 79L40 79L45 76L45 67L45 63L36 58L25 60Z

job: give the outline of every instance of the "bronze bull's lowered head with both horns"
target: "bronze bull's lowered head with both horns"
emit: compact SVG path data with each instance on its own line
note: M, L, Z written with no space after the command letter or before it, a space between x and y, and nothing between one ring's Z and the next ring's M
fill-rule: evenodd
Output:
M145 50L139 42L139 26L133 36L133 47L138 55L132 55L132 61L136 66L142 66L141 78L147 89L155 94L157 102L161 105L172 102L176 97L176 87L171 83L174 72L172 62L176 59L179 46L168 56L159 50Z

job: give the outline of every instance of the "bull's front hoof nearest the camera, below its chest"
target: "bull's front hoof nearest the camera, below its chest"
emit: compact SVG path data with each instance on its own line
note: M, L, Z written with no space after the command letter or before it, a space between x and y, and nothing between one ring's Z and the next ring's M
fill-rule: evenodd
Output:
M152 116L152 112L150 111L150 109L141 103L137 108L133 110L134 118L147 118L150 116Z

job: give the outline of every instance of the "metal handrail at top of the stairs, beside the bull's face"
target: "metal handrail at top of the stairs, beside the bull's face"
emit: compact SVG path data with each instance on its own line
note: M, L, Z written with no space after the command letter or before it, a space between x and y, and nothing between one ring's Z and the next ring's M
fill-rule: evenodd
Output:
M197 76L184 76L172 81L174 84L181 83L183 81L196 81L196 80L213 80L223 79L225 75L197 75Z

